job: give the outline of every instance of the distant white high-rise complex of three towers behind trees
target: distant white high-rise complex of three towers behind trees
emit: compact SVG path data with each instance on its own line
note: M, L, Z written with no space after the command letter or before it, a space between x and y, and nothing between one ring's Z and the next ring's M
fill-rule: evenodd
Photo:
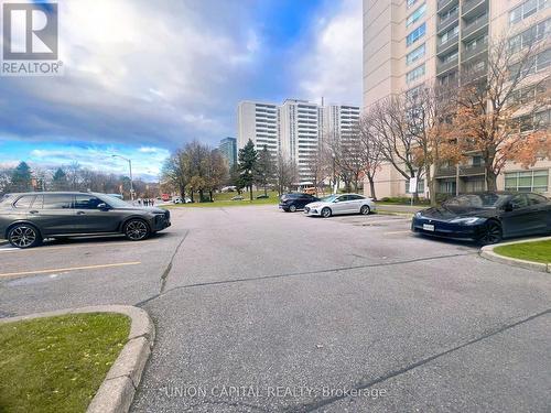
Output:
M252 140L258 150L268 145L273 154L293 161L301 182L313 181L311 162L326 133L350 135L359 107L287 99L283 105L242 101L237 110L239 149ZM269 123L268 123L269 121ZM268 133L269 132L269 133Z

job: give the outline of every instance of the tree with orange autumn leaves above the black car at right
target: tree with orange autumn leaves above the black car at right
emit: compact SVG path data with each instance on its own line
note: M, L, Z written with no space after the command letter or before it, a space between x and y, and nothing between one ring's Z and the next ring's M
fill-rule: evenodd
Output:
M507 161L530 166L551 152L549 120L540 117L551 105L551 72L540 69L551 51L537 37L520 43L506 36L493 41L485 69L467 70L457 94L455 132L464 153L483 157L489 191Z

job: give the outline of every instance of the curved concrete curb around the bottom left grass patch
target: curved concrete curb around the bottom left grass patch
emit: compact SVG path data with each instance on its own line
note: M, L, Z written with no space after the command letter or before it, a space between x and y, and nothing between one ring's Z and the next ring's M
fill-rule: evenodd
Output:
M132 320L128 343L87 409L87 413L126 413L132 403L155 338L153 322L143 309L130 305L98 305L1 318L0 324L82 313L119 313Z

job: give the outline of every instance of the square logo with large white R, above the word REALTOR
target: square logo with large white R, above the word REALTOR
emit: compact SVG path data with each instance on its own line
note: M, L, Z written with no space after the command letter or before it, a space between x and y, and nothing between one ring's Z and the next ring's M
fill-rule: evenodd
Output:
M57 3L3 3L3 59L57 59Z

